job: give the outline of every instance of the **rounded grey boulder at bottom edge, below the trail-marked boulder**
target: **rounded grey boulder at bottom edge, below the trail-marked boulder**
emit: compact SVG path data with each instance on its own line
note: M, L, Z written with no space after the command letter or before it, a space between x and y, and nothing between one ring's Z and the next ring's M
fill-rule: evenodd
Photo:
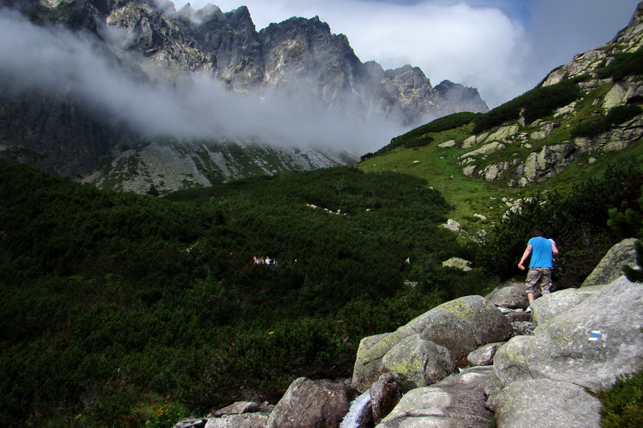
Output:
M487 405L502 428L601 426L601 402L584 388L551 379L512 382Z

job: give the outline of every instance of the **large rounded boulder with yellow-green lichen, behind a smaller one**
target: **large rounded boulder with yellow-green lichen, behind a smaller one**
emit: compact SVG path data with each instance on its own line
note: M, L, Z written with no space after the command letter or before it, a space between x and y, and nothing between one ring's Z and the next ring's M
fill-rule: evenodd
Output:
M502 312L482 296L466 296L446 302L386 335L365 337L359 343L352 387L366 391L387 372L384 357L412 335L446 347L462 367L467 355L490 342L503 342L512 334L512 325Z

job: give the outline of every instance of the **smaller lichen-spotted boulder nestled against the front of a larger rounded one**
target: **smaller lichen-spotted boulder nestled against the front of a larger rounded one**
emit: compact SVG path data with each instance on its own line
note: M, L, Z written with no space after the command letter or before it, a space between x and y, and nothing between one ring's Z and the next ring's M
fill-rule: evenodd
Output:
M402 391L439 382L458 367L447 348L419 335L410 335L397 343L382 358L388 372L399 374L397 383Z

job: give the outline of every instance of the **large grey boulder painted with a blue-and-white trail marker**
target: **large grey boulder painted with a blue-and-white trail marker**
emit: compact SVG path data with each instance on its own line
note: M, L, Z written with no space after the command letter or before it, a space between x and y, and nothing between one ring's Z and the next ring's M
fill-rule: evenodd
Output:
M537 302L547 305L558 293ZM504 384L552 379L592 391L608 388L643 366L642 307L643 287L620 277L539 322L533 336L509 340L494 355L494 370Z

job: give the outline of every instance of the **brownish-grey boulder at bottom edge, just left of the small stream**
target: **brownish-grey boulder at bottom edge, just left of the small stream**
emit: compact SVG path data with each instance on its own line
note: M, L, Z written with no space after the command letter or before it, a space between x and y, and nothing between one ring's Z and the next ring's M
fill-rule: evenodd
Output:
M354 398L344 384L299 377L274 407L266 428L337 428Z

